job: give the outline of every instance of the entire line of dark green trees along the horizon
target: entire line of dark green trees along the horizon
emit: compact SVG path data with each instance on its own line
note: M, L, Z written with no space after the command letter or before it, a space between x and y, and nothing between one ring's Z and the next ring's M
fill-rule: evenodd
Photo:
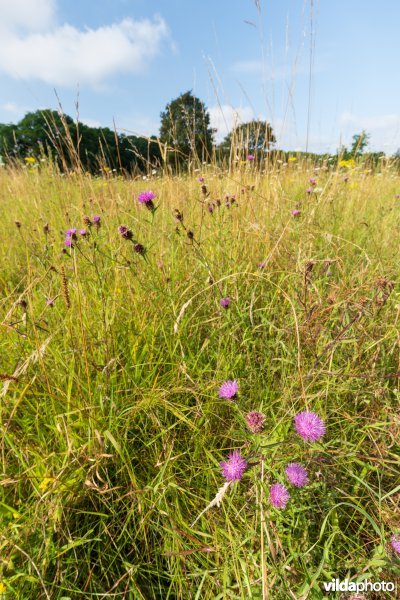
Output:
M101 169L118 172L147 172L168 165L181 170L190 164L237 163L277 157L287 160L290 153L275 149L276 137L267 121L252 120L235 126L220 142L210 114L191 91L167 104L161 113L159 136L135 136L108 127L91 127L73 120L62 111L50 109L27 113L17 124L0 124L0 157L5 161L51 158L61 170L82 169L90 173ZM353 136L350 149L342 147L339 159L355 159L364 153L368 134ZM329 155L301 153L313 160ZM370 155L374 162L383 153Z

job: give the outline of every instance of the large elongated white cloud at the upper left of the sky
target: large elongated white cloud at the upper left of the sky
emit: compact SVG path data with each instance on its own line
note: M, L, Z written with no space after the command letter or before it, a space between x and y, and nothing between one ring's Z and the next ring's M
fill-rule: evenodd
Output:
M10 8L13 4L15 10ZM146 70L169 35L158 16L80 30L52 25L54 0L0 0L0 9L3 5L7 10L1 15L0 71L15 79L97 86L115 74ZM19 15L24 8L27 14Z

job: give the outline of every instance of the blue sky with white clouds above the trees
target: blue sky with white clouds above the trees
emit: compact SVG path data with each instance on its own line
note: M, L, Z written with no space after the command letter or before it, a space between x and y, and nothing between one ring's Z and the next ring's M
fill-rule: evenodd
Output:
M271 122L277 146L400 148L398 0L0 0L0 123L52 108L157 135L192 90L217 140Z

